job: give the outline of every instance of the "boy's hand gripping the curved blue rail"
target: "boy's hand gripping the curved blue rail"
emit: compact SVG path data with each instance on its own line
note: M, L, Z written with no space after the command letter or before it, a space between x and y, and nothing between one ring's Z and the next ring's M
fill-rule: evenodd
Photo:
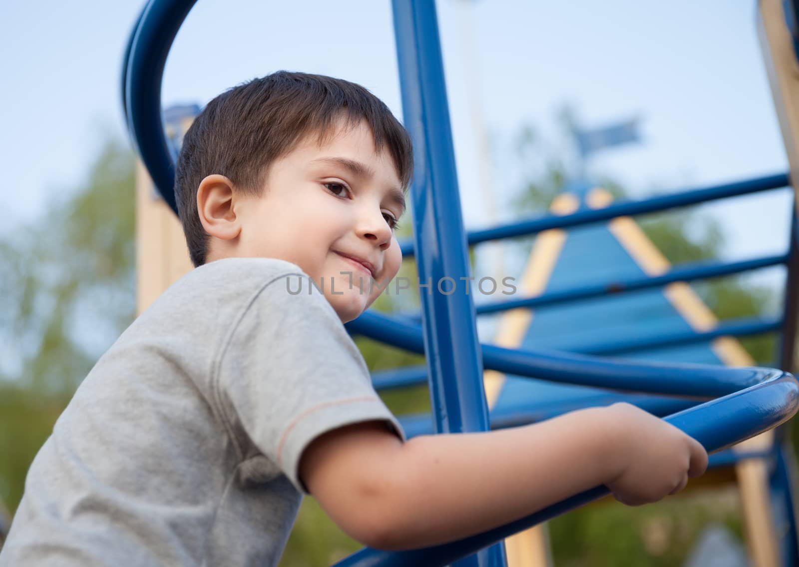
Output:
M618 403L605 409L618 439L618 471L605 484L616 500L642 505L685 488L707 469L707 452L666 421Z

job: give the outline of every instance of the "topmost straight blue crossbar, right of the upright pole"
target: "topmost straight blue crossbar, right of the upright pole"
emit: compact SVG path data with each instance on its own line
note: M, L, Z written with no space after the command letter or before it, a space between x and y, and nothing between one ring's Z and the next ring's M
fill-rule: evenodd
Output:
M742 182L728 183L706 187L704 189L689 190L673 195L662 195L644 201L618 202L604 209L581 209L576 213L562 216L547 215L543 217L528 218L524 221L512 222L508 225L493 226L489 229L472 230L467 234L469 246L514 238L527 234L539 233L542 230L562 229L570 226L588 225L592 222L609 221L611 218L627 217L634 214L654 213L662 210L674 209L681 206L697 205L707 201L714 201L725 197L735 197L758 191L780 189L788 186L788 174L769 175L765 178L748 179ZM406 241L400 243L403 256L413 254L413 243Z

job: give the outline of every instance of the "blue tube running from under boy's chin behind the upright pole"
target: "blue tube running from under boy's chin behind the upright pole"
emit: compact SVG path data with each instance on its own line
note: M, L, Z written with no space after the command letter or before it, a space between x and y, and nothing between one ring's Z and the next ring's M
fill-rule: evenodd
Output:
M419 325L368 311L347 326L351 333L368 335L401 349L424 353ZM697 399L725 396L781 372L766 368L633 362L582 354L505 349L486 344L480 347L486 369L562 384Z

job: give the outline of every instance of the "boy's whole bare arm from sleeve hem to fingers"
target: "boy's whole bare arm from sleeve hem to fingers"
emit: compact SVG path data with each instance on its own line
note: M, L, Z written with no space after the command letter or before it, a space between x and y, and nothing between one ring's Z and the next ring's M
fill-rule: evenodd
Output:
M627 504L657 501L706 466L697 441L615 404L404 444L382 423L352 425L313 441L300 477L352 537L412 549L495 528L602 484Z

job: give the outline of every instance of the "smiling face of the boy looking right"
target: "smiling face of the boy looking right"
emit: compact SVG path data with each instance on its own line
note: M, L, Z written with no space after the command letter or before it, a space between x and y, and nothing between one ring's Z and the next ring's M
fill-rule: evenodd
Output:
M300 142L272 163L262 194L241 204L238 255L300 266L344 322L400 269L392 226L403 214L402 185L365 122L340 127L322 145L313 136Z

